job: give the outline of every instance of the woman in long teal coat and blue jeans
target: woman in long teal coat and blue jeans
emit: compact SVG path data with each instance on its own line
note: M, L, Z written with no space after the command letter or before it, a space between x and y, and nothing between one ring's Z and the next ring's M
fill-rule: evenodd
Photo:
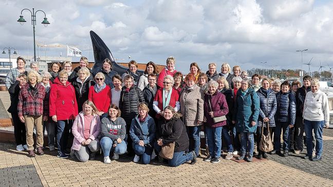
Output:
M236 132L241 133L241 154L237 160L243 160L246 152L251 162L254 150L254 133L260 111L260 101L256 92L249 88L249 79L242 80L242 88L237 91L233 123L236 123Z

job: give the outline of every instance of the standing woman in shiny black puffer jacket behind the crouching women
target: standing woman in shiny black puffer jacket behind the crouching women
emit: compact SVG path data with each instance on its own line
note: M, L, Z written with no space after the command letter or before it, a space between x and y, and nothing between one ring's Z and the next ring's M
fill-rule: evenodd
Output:
M126 75L124 77L125 86L122 88L119 100L119 109L121 111L121 117L124 118L126 122L126 134L127 137L130 136L130 128L132 124L132 119L138 115L138 103L144 102L144 97L141 90L136 87L133 83L133 77L131 75ZM132 139L127 139L127 152L128 155L134 155L132 149Z

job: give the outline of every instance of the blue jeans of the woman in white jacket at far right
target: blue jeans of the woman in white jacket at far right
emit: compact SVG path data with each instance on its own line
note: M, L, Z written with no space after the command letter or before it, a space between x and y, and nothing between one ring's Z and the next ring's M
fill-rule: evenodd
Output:
M323 152L323 128L325 121L309 121L304 119L304 131L306 136L306 150L309 157L312 157L312 129L316 139L316 155L321 157Z

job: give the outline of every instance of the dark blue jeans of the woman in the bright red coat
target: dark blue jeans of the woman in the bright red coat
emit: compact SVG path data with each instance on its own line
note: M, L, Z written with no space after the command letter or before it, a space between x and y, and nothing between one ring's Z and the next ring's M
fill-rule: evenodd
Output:
M58 120L57 122L57 144L58 144L58 154L65 154L67 148L67 141L69 136L69 131L71 131L71 126L73 120Z

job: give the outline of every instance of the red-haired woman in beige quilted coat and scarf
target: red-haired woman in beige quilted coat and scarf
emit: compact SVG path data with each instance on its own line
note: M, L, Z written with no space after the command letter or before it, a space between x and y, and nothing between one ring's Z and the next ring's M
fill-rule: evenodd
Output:
M199 156L200 130L204 120L204 92L195 84L195 76L188 74L185 77L186 86L180 95L180 109L182 121L186 126L188 136L193 138L193 147L196 156Z

